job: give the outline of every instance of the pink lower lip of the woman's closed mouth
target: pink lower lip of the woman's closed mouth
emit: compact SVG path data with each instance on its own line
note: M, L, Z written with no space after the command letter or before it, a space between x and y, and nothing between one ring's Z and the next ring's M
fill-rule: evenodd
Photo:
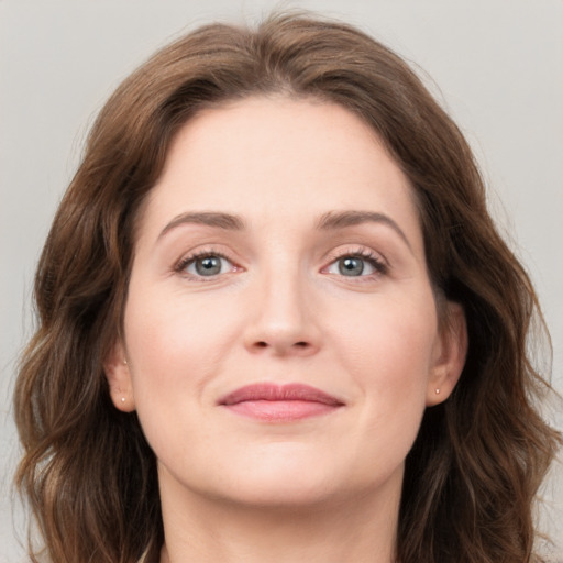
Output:
M266 421L301 420L328 415L339 408L338 405L310 400L245 400L225 407L236 415Z

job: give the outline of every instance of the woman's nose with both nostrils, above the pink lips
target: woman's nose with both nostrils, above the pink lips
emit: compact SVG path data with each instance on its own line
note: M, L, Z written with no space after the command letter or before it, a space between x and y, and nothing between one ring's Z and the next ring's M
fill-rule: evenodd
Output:
M309 356L321 345L319 311L298 272L264 276L253 288L244 345L253 354Z

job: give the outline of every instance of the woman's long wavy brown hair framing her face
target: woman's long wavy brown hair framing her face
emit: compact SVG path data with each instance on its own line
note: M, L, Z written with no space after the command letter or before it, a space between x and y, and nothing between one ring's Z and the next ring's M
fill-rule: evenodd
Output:
M397 560L532 561L532 503L560 443L534 406L549 385L527 355L541 322L533 288L493 224L467 143L417 76L358 30L309 15L186 35L131 75L91 130L41 256L38 329L15 390L16 482L46 552L56 563L156 556L155 457L135 413L113 408L102 369L121 330L135 218L195 113L279 92L339 103L373 128L413 187L435 288L465 310L464 372L427 409L407 459Z

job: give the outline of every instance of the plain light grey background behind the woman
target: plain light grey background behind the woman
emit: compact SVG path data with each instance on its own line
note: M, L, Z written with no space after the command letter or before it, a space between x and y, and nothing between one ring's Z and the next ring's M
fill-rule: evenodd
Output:
M23 556L22 510L10 501L14 361L32 333L34 265L88 125L120 80L183 30L252 22L272 8L344 19L424 69L537 285L563 391L562 0L0 0L0 563ZM561 465L545 498L542 521L561 545Z

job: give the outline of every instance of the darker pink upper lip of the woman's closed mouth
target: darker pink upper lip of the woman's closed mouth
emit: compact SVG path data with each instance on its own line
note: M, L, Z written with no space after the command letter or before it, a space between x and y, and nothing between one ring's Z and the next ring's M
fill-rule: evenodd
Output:
M324 405L341 406L343 402L316 387L303 384L276 385L258 383L240 387L219 399L219 405L236 405L251 400L305 400Z

